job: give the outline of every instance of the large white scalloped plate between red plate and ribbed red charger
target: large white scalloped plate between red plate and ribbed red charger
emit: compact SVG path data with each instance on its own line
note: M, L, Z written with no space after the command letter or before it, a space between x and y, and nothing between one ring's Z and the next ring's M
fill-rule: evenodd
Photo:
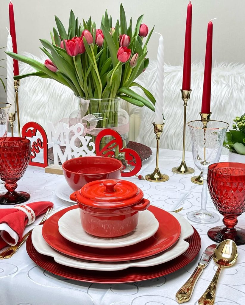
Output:
M34 228L31 234L31 240L37 252L53 257L58 264L62 264L68 267L96 271L116 271L127 269L129 267L155 266L166 263L183 254L189 247L189 243L184 241L184 239L190 237L194 233L193 227L186 219L176 213L171 214L177 218L181 225L181 234L179 240L172 247L163 251L162 253L140 260L133 260L122 263L105 263L80 260L77 258L66 256L64 254L59 253L58 251L55 251L45 242L42 236L42 225L36 226Z

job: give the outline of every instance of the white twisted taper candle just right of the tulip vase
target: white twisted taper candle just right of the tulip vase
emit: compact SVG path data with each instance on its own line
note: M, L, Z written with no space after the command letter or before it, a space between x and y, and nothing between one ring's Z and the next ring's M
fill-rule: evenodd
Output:
M159 33L156 33L159 34ZM163 123L163 84L164 84L164 45L161 34L157 50L157 81L156 81L156 104L155 104L155 124Z

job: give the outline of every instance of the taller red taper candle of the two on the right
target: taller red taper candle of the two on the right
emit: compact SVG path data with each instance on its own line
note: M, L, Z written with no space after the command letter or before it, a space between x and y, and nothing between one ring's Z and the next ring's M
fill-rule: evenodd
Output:
M187 6L182 90L190 90L192 4Z

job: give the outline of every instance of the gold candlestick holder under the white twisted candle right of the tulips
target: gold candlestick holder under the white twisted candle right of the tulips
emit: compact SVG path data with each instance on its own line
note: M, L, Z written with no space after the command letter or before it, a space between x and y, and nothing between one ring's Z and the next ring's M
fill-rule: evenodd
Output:
M153 123L154 126L154 133L156 135L156 140L157 140L157 152L156 152L156 167L154 169L154 172L152 174L148 174L145 176L145 179L147 181L151 182L164 182L169 180L169 176L162 174L159 170L158 167L158 160L159 160L159 142L160 142L160 135L162 134L163 131L163 124L155 124Z

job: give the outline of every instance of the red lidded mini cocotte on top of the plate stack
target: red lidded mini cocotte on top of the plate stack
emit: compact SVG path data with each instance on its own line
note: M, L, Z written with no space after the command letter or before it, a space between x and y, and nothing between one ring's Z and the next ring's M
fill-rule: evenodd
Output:
M117 237L132 232L138 223L138 211L150 201L130 181L98 180L76 192L83 230L99 237Z

